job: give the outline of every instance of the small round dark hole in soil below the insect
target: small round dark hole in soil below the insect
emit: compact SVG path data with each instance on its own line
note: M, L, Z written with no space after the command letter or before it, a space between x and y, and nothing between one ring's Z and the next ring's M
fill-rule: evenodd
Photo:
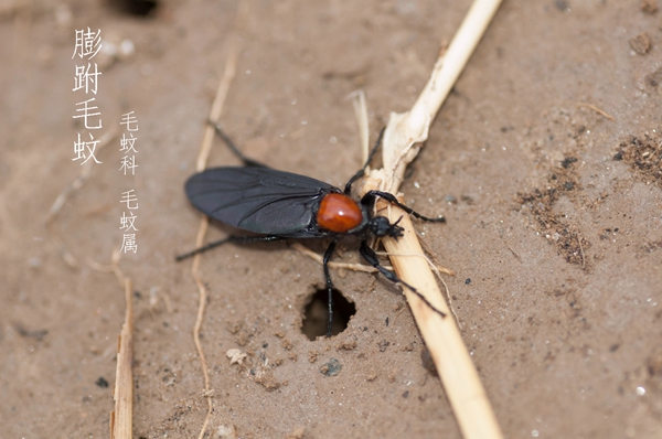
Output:
M348 328L350 318L356 313L356 306L348 301L344 296L338 290L333 290L333 325L331 326L331 335L338 335ZM303 325L301 332L306 334L308 340L314 341L318 336L327 335L329 326L329 292L317 290L310 302L303 310Z

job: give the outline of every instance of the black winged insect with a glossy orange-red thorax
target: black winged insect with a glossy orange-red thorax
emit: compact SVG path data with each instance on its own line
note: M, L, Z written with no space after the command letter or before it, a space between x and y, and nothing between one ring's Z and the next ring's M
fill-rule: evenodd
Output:
M371 214L377 197L397 205L423 221L442 223L446 220L442 216L438 218L423 216L398 202L388 192L369 191L359 202L351 196L352 184L364 175L365 169L381 144L384 129L380 132L363 168L348 181L344 190L340 190L310 176L278 171L249 159L237 149L218 125L215 125L214 128L218 137L244 162L244 167L212 168L196 173L186 181L186 195L199 211L213 220L258 235L228 236L180 255L177 257L178 260L226 243L249 244L288 238L330 238L331 244L324 253L322 267L329 290L327 336L331 336L333 281L329 274L329 260L338 242L345 236L354 235L361 238L359 251L370 265L392 282L409 288L431 309L442 317L445 315L414 287L399 279L395 272L384 268L375 251L367 245L367 238L371 235L393 238L403 236L403 228L397 225L399 220L391 224L385 216Z

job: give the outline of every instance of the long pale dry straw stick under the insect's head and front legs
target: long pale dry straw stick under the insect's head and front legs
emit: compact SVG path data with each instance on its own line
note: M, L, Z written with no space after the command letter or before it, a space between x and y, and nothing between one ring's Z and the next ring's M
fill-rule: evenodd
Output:
M384 168L371 171L364 191L380 189L392 193L397 192L406 165L414 160L420 143L427 139L431 121L500 3L501 0L473 2L448 51L435 64L430 79L414 107L404 114L391 114L384 136ZM393 255L423 254L408 215L397 207L386 206L386 203L378 203L377 208L387 210L392 222L402 217L398 225L405 228L403 238L383 239L386 250ZM434 307L449 314L448 306L425 258L391 256L391 260L403 280L420 291ZM406 288L405 295L444 383L463 437L502 438L490 401L455 321L441 318Z

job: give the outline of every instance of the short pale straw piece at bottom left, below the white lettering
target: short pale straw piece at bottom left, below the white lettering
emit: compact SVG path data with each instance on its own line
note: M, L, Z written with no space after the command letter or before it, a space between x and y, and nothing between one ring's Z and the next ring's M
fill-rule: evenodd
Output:
M125 279L126 317L117 343L115 410L110 411L110 439L131 439L134 413L134 307L131 279Z

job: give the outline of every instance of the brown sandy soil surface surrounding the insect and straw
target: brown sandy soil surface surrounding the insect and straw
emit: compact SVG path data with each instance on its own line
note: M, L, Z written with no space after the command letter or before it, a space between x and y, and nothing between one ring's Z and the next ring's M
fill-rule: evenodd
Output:
M103 2L2 2L0 438L107 437L125 302L89 261L109 264L130 189L139 248L120 267L136 287L135 437L197 437L197 290L174 255L194 245L201 216L183 182L231 42L226 130L250 157L342 185L361 164L346 95L366 92L374 138L413 104L468 8L357 3L161 1L140 18ZM72 53L87 26L135 45L99 57L97 103L102 132L136 113L139 168L118 172L115 139L45 225L81 173ZM446 282L509 438L662 438L661 26L654 0L506 0L403 185L415 208L448 218L419 231L457 274ZM216 146L211 164L236 163ZM341 258L359 260L351 243ZM220 248L201 272L206 437L460 437L382 278L334 271L355 314L310 341L302 314L322 270L287 244Z

